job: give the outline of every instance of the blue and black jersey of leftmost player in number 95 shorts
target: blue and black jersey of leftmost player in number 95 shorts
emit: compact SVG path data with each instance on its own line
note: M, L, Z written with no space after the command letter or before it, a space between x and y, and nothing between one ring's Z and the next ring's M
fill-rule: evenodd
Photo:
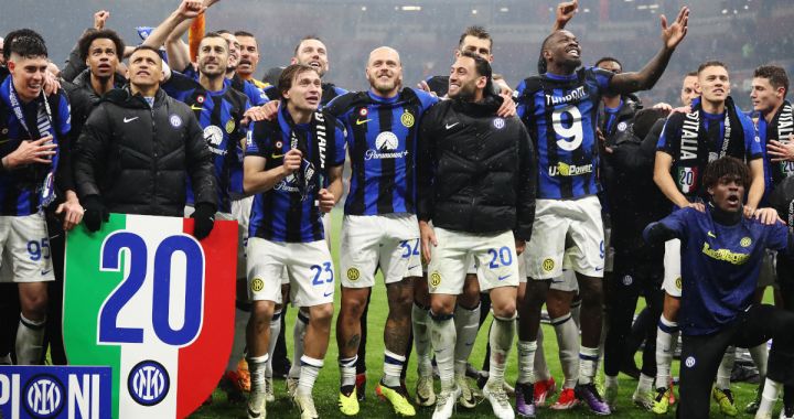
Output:
M0 85L0 157L14 151L22 141L37 140L50 135L50 132L42 132L42 126L37 121L39 106L43 96L28 104L19 103L19 110L24 119L24 122L20 122L10 100L12 83L13 78L7 77ZM49 118L50 127L51 131L55 133L55 142L65 140L72 129L66 94L58 90L47 101L52 111ZM23 216L37 213L42 204L42 187L45 178L49 176L47 172L53 166L57 168L58 159L60 153L53 155L51 164L34 163L0 173L0 215Z

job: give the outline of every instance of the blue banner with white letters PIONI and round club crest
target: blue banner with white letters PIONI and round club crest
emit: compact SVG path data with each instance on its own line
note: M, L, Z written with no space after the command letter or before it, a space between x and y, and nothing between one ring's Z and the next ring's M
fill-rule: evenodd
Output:
M110 418L110 367L0 365L0 418Z

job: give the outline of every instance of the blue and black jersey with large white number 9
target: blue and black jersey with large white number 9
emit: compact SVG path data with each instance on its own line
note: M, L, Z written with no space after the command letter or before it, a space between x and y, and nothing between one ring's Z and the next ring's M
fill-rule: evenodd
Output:
M608 71L584 67L567 76L529 77L516 88L518 116L537 147L538 198L578 198L600 191L596 128L611 77Z

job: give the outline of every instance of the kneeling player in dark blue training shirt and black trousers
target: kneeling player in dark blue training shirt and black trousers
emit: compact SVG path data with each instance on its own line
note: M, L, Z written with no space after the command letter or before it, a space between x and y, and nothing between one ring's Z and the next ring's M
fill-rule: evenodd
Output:
M794 383L794 313L753 299L765 249L792 255L792 235L782 223L768 225L743 216L750 175L741 161L718 159L702 179L709 195L705 211L678 210L644 232L650 244L682 240L679 418L709 416L711 383L729 345L753 347L772 339L768 388ZM764 208L755 216L769 221L776 215ZM769 415L764 405L759 413Z

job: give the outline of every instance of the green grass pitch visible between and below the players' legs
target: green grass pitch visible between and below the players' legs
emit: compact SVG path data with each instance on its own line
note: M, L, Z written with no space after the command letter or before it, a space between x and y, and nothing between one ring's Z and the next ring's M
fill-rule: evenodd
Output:
M332 236L333 247L332 254L334 262L336 262L339 255L339 241L337 238L339 229L342 222L341 211L334 211L333 215L333 233ZM339 275L337 275L339 277ZM769 297L769 296L768 296ZM642 300L641 300L642 303ZM335 307L339 308L339 292L336 296ZM373 289L372 302L369 304L369 334L367 336L367 387L366 387L366 400L361 405L361 412L358 418L393 418L396 417L391 407L388 402L382 401L375 395L375 386L377 380L380 378L383 372L383 327L386 322L387 315L387 303L386 303L386 290L383 281ZM297 310L290 308L287 316L287 330L281 331L287 333L287 347L290 358L292 357L292 324L294 323ZM335 322L335 319L334 319ZM485 340L487 339L487 326L491 320L481 329L478 342L474 345L470 362L474 366L481 366L483 356L485 354ZM334 323L335 324L335 323ZM554 329L549 325L544 325L544 332L547 339L544 342L546 350L546 357L549 364L549 369L557 380L558 385L562 382L562 373L559 365L559 358L557 355L557 340L555 339ZM316 385L314 386L314 404L316 405L318 412L321 418L344 418L336 408L336 397L339 395L339 366L336 364L337 351L336 351L336 337L332 329L331 341L329 344L329 351L325 355L325 366L320 373ZM637 365L640 365L641 358L637 354ZM507 362L506 378L508 383L514 383L516 378L516 350L515 346L511 351L511 356ZM408 378L407 386L408 390L414 396L414 389L416 386L416 362L414 358L410 359L408 366ZM677 375L678 362L675 361L673 365L673 375ZM603 374L603 373L602 373ZM620 397L618 401L618 409L613 412L614 418L650 418L652 413L642 411L634 407L631 401L631 396L636 387L636 380L623 374L620 375ZM267 417L268 418L297 418L300 416L299 410L292 405L291 400L287 397L287 388L283 380L275 380L276 388L276 402L268 404ZM438 380L436 383L437 391L439 388ZM754 385L749 384L733 384L733 394L737 398L737 407L740 409L739 417L751 418L752 416L741 412L744 406L752 399L754 395ZM225 393L216 390L214 396L214 402L210 406L203 407L194 412L192 418L246 418L245 404L230 404L226 401ZM556 399L556 396L552 398ZM552 400L554 401L554 400ZM780 406L779 406L780 408ZM775 411L776 413L776 411ZM417 418L430 418L432 416L431 408L417 409ZM668 417L675 417L675 412L670 411ZM460 408L454 413L454 417L460 418L493 418L491 405L487 401L481 402L474 409ZM539 418L586 418L596 417L586 407L578 407L570 411L556 412L548 409L540 409L538 413ZM776 416L774 416L776 417ZM711 404L711 418L722 418L719 412L719 408L713 402Z

